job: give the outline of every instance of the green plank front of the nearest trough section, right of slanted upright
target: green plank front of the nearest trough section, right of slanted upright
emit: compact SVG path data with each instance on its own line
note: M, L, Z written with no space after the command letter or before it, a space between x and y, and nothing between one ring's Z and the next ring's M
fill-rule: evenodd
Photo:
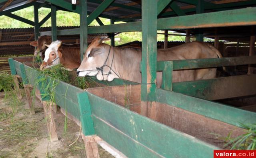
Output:
M88 97L96 134L128 157L205 158L218 149L93 94Z

